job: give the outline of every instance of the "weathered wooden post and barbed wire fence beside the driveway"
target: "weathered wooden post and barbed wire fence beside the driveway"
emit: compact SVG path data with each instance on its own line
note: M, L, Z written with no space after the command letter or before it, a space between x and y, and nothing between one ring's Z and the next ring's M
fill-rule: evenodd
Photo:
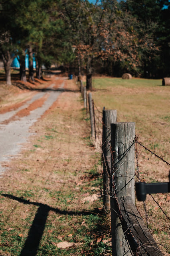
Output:
M91 99L89 100L90 105L90 101L93 102L91 93L88 94L88 99L89 98ZM83 96L83 99L85 100L85 96ZM103 139L101 145L104 188L103 207L105 208L106 212L109 212L110 206L108 206L108 202L109 204L111 204L113 255L163 256L162 252L158 248L158 245L156 244L148 229L148 213L146 210L145 202L143 202L143 204L147 226L144 224L140 214L138 213L138 210L136 209L136 206L134 205L134 191L132 191L132 188L134 188L134 176L136 176L139 181L141 180L139 175L140 170L138 164L137 144L143 147L145 150L148 150L155 157L158 157L168 166L170 164L165 161L161 156L156 155L154 152L138 142L138 138L135 136L134 128L132 128L134 123L116 123L116 121L110 121L108 123L105 118L102 118L101 121L100 114L103 114L103 112L99 111L94 102L92 105L93 108L90 108L89 106L89 112L93 110L93 115L90 114L90 118L92 119L91 134L92 128L93 130L95 129L94 127L96 124L96 120L98 120L98 123L102 124L103 130L107 130L107 134L104 135L103 132ZM98 112L99 116L97 116L95 110ZM111 124L112 122L114 124ZM117 126L119 126L119 128L115 128ZM124 128L120 128L120 126L123 126ZM126 135L124 134L126 130L125 126L130 127L127 129ZM96 125L96 127L98 129L98 132L101 133L101 129L99 128L99 126ZM120 142L120 140L123 138L123 135L121 135L122 132L126 137L126 141L124 142ZM129 136L129 132L133 132L133 136ZM93 132L92 136L92 138L96 139L96 136L94 136L94 134L96 134L96 131ZM110 135L111 138L109 138ZM117 146L113 146L116 139L118 139ZM121 144L123 145L122 147ZM108 151L108 148L110 152L109 154L105 154L105 152ZM133 151L133 157L131 156L131 158L128 159L128 155L131 151ZM134 165L135 158L136 172L134 171L135 167L132 167L132 165ZM126 169L127 166L129 170ZM156 202L153 196L150 196ZM109 200L107 200L106 198L109 198ZM156 202L156 204L158 204L158 202ZM166 218L170 219L170 217L166 215L166 213L163 211L159 204L158 206L165 214Z

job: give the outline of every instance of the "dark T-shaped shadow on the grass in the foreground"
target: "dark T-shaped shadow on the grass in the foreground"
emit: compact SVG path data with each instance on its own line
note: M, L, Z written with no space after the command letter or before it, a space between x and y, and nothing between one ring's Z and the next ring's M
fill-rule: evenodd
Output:
M74 212L74 211L65 211L65 210L62 211L62 210L59 210L58 208L50 207L47 204L30 202L29 200L25 200L17 196L12 196L10 194L2 194L2 196L10 198L12 200L16 200L23 204L32 204L35 206L39 206L20 256L36 256L49 211L53 211L55 213L59 213L63 215L71 215L71 216L73 215L87 216L91 214L92 215L99 214L98 208L95 209L93 212L86 212L86 211Z

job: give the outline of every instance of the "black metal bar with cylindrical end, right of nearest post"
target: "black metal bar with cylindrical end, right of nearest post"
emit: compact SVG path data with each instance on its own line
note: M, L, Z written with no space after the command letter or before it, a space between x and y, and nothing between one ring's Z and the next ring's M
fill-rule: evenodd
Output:
M137 200L145 201L146 194L170 192L170 182L161 182L161 183L136 182L135 189L136 189Z

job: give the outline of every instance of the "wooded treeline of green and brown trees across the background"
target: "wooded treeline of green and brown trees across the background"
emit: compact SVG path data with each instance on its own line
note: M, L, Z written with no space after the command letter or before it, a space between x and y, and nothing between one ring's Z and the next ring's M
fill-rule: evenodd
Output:
M2 0L0 3L0 57L6 82L18 56L20 79L41 78L42 64L62 64L92 74L162 78L170 76L169 0Z

